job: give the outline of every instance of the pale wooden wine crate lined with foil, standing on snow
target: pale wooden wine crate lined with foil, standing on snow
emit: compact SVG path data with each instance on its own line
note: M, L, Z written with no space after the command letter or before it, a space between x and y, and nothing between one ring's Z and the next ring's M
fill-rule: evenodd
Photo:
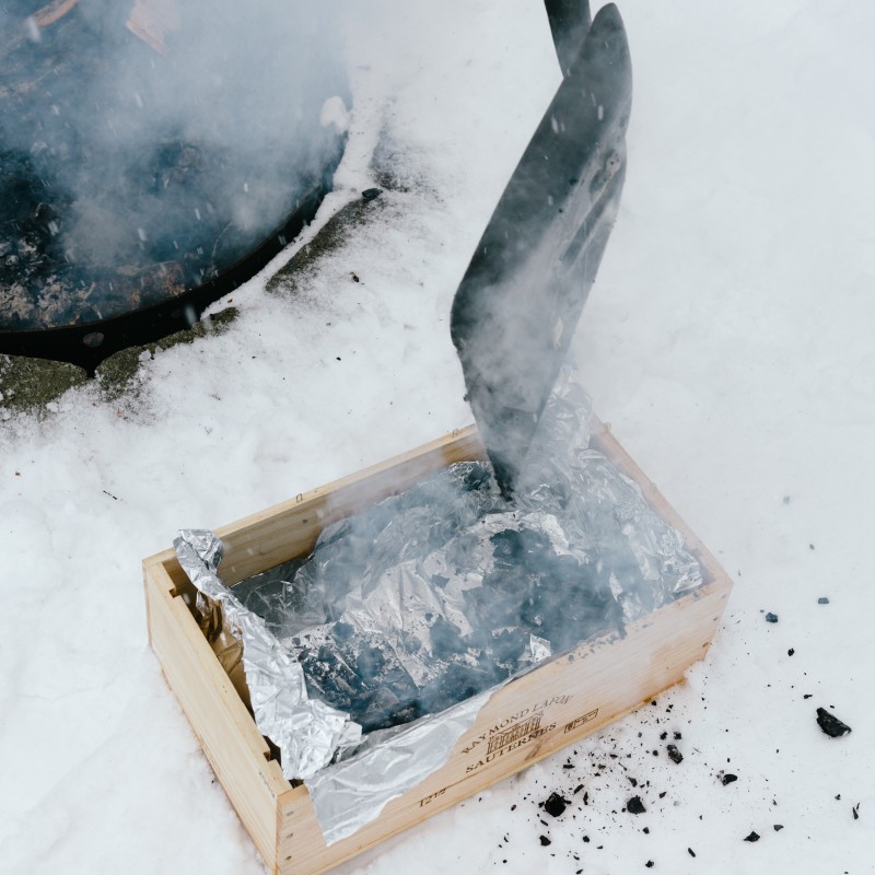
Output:
M455 805L518 769L600 730L681 679L708 650L732 582L656 488L595 422L593 446L638 481L651 505L682 533L703 583L627 627L592 638L493 693L447 762L393 800L350 838L326 847L304 785L293 786L259 734L190 609L194 587L173 550L144 560L152 648L253 841L282 875L316 875ZM481 458L474 428L225 526L220 572L229 584L310 552L328 523L412 486L454 462ZM240 682L237 682L240 688Z

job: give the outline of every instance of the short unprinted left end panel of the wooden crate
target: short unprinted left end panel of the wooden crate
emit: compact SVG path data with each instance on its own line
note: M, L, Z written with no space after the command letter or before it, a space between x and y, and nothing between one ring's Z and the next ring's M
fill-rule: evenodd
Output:
M258 734L163 564L144 565L152 649L241 820L269 865L276 856L277 797L289 783Z

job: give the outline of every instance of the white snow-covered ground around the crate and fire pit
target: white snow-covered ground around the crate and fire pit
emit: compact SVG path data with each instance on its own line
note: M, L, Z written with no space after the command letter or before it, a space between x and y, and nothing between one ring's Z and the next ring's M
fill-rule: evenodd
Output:
M629 174L575 353L735 591L655 705L348 875L875 872L875 11L620 8ZM471 419L450 304L559 82L546 16L381 0L348 21L349 151L307 234L374 184L377 142L401 189L295 296L265 271L136 393L0 423L4 873L260 873L148 648L139 562ZM818 707L853 732L827 737Z

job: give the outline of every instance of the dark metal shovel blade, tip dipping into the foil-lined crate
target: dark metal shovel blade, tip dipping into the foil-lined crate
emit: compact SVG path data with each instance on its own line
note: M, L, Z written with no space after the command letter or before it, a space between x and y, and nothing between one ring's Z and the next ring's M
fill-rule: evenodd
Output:
M626 31L610 4L580 45L453 301L468 399L506 497L617 214L631 100Z

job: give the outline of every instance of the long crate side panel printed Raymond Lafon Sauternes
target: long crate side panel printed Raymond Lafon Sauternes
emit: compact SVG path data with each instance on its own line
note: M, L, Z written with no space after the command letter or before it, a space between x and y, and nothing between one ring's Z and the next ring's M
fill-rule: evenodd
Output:
M650 701L704 656L728 590L715 583L512 681L483 707L446 765L330 847L303 789L280 804L278 867L317 875L452 807Z

